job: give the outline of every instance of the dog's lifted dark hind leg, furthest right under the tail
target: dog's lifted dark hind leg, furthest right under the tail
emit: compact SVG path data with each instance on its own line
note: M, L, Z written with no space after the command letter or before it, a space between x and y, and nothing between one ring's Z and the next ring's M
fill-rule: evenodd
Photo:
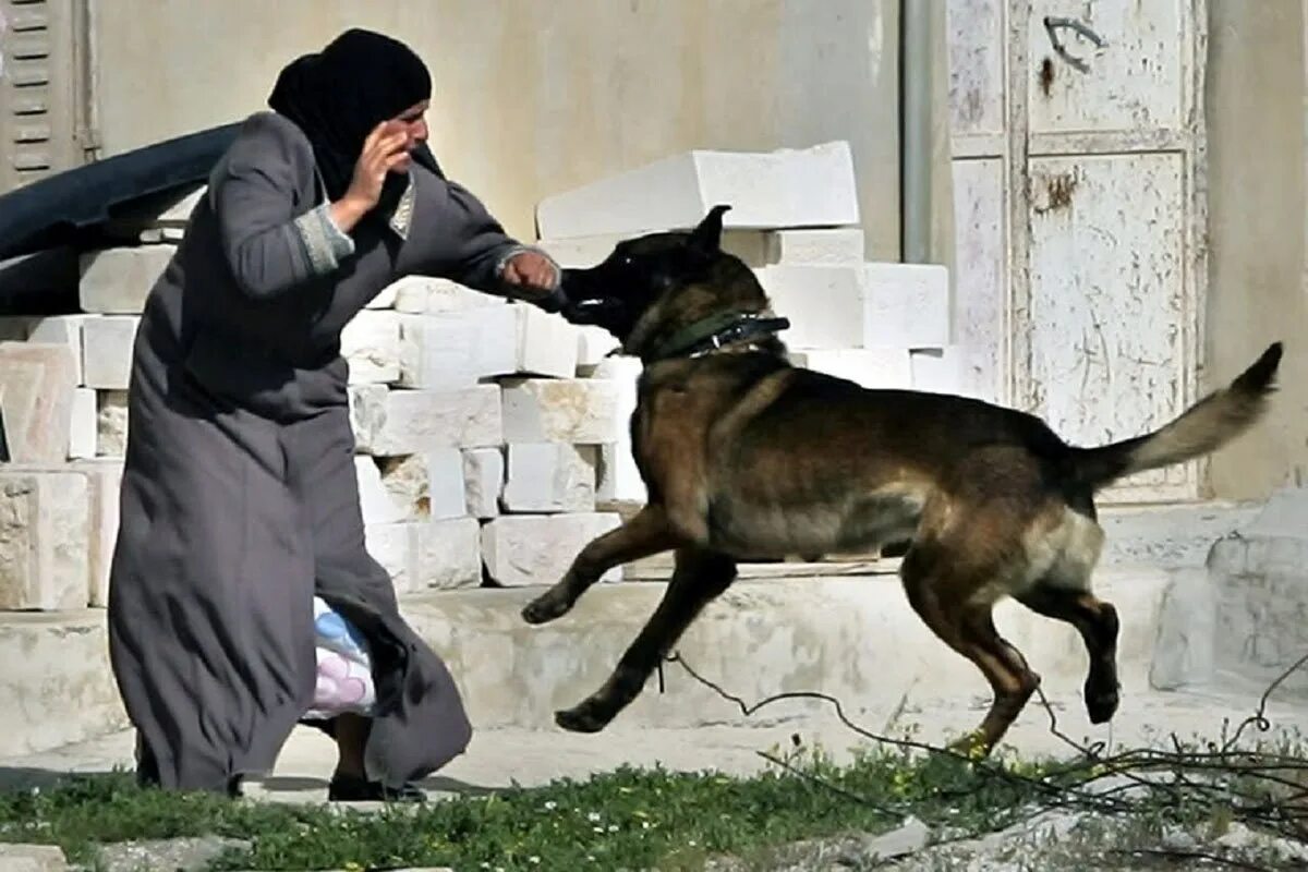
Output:
M1076 628L1090 655L1086 676L1086 713L1101 724L1117 713L1117 609L1087 591L1071 590L1041 580L1016 597L1032 612L1066 621Z

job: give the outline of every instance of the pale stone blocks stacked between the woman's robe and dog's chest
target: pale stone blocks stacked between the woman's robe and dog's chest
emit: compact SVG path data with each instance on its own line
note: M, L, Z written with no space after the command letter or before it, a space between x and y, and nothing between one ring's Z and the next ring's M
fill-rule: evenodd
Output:
M596 510L616 386L577 378L577 328L408 277L341 337L369 549L400 590L553 583L619 524ZM606 575L616 580L620 570Z

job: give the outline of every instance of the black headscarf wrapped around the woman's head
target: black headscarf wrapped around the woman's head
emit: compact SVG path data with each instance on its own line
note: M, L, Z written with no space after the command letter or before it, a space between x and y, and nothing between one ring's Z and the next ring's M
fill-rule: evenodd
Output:
M354 27L320 52L288 64L277 76L268 106L309 137L327 196L337 200L349 188L373 128L430 95L432 76L408 46ZM425 143L415 149L413 161L441 175ZM404 179L392 174L378 205L394 207L403 184Z

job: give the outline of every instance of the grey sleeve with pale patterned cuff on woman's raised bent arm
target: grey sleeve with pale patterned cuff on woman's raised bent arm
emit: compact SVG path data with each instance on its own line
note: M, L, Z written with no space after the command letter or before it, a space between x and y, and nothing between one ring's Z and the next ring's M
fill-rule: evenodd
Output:
M297 203L297 192L314 190L313 150L289 124L271 114L252 116L209 183L222 255L255 299L330 275L354 251L330 204Z

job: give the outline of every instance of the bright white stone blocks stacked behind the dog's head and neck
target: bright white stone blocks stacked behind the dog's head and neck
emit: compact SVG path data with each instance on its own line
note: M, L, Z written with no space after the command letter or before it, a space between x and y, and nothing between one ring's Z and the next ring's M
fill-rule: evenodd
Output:
M939 265L865 258L853 158L844 141L764 153L687 152L548 197L538 242L565 267L590 267L624 241L693 227L717 204L723 248L748 264L790 319L781 335L797 365L866 387L960 392L950 343L948 275ZM640 363L603 358L587 331L582 374L617 380L624 416ZM602 448L600 499L645 499L625 433Z

